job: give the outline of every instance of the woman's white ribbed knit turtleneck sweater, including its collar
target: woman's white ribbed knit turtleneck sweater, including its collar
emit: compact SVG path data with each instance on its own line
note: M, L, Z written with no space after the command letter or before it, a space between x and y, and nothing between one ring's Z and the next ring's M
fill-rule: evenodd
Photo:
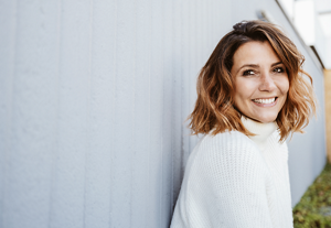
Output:
M242 118L238 131L205 135L191 153L171 228L292 228L286 142L277 124Z

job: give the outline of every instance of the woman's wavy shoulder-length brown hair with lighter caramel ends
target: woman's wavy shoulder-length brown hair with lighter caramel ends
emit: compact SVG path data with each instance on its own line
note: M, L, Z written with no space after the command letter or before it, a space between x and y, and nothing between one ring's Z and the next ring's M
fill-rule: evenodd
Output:
M316 113L312 78L302 69L305 57L296 45L275 24L243 21L222 37L200 72L195 108L188 118L193 134L236 130L253 135L243 126L242 113L234 107L234 78L231 75L234 53L250 41L269 42L288 74L287 100L276 119L280 141L290 133L302 133L310 116Z

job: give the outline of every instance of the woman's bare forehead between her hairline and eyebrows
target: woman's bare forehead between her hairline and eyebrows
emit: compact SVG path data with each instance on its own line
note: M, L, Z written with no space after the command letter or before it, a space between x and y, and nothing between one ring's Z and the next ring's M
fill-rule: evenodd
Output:
M279 57L268 41L250 41L241 45L233 56L233 67L241 67L244 64L274 64Z

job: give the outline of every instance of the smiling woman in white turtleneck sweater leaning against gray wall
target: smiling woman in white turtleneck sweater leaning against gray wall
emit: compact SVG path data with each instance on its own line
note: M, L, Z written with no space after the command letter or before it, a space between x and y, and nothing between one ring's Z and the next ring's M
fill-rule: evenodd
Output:
M316 112L305 58L274 24L244 21L197 79L194 134L172 228L292 227L286 138Z

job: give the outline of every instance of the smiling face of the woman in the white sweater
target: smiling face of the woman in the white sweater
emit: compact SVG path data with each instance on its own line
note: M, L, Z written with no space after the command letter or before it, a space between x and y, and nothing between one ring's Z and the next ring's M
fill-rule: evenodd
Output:
M259 122L275 121L287 99L289 80L269 42L243 44L235 52L233 63L235 107Z

